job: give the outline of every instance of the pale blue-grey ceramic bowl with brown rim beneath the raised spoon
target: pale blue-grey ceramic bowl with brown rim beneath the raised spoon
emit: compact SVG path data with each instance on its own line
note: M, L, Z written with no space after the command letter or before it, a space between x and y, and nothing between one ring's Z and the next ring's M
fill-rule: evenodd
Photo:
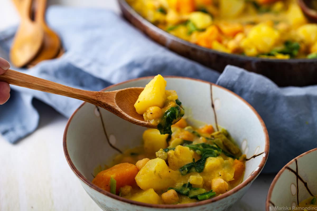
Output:
M105 90L144 87L152 78L130 80ZM245 194L268 158L266 127L255 109L223 87L191 78L165 77L165 80L168 90L177 91L185 106L185 115L190 113L194 119L213 125L217 121L237 141L248 158L240 185L205 201L178 205L135 202L98 188L91 182L94 169L98 165L109 164L119 154L118 150L140 146L146 128L133 125L89 103L83 103L68 121L63 138L66 159L88 195L103 210L229 210Z

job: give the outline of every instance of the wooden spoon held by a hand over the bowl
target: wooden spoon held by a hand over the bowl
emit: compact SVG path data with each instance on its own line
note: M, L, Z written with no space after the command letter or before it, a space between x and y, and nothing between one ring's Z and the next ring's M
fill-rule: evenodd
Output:
M108 92L86 91L57 84L42 78L36 78L14 70L8 70L3 75L0 75L0 81L33 90L83 100L104 108L133 124L156 128L156 126L152 125L150 122L144 121L143 116L139 115L133 106L137 101L139 94L144 89L143 87L133 87Z

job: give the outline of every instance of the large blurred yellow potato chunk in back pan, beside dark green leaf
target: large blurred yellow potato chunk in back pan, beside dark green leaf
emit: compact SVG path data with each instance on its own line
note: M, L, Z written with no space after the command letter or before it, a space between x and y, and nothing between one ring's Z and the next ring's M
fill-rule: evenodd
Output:
M245 51L256 48L259 53L266 53L272 50L279 39L280 33L276 29L268 24L260 23L250 30L241 45Z

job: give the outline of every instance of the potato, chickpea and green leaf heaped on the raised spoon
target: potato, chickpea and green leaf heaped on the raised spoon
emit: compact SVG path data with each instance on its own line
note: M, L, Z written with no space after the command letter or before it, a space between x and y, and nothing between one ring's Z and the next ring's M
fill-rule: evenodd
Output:
M171 125L184 116L184 109L176 91L165 90L165 87L164 78L155 76L146 84L134 107L145 121L157 125L161 134L171 134Z

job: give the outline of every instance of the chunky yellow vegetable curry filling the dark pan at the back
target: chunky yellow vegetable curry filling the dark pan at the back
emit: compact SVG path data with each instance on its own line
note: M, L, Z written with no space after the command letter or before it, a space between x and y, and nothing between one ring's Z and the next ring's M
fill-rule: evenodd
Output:
M317 58L317 24L296 0L127 0L159 28L226 53Z

